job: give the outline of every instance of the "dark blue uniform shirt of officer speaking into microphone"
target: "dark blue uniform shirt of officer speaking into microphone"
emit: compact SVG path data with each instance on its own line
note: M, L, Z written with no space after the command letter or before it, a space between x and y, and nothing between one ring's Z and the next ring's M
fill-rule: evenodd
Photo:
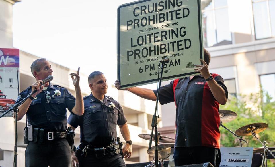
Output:
M32 92L32 87L28 87L22 91L17 102L24 99ZM51 100L47 102L46 92ZM67 110L72 113L75 106L75 97L66 88L58 85L48 86L46 91L42 91L32 100L27 111L28 124L32 124L33 128L44 128L50 131L62 132L67 129ZM73 114L73 113L72 113Z

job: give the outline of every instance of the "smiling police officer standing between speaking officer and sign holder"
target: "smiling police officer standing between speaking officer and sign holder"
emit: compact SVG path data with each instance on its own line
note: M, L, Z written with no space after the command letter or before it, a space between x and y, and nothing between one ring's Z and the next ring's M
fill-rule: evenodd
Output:
M95 71L91 73L89 78L91 78L89 80L93 80L93 84L99 83L103 85L102 87L107 88L107 84L105 83L106 79L103 73ZM91 82L89 81L89 83ZM93 84L90 84L90 86ZM94 148L107 148L108 146L117 142L117 125L119 126L124 139L126 141L129 140L125 147L130 147L132 144L132 141L130 141L128 126L126 124L127 120L124 116L122 107L113 98L104 96L105 92L99 93L100 95L103 95L101 96L103 99L99 100L98 98L95 98L93 94L97 95L96 90L98 89L99 88L95 87L89 96L83 98L84 114L82 116L70 114L68 118L68 124L73 129L80 126L81 144L79 148L81 150L81 154L77 154L80 167L125 166L121 154L118 153L114 155L98 157L94 150ZM86 150L85 147L87 148ZM129 148L127 149L129 150ZM126 157L130 156L128 153L130 152L124 152Z

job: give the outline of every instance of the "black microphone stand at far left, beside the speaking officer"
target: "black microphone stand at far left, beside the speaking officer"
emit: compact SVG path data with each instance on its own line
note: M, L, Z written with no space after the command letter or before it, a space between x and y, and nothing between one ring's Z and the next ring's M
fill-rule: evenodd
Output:
M41 88L41 86L40 86ZM18 112L19 109L18 107L23 104L30 96L32 96L35 92L37 92L37 90L34 90L31 94L29 94L26 98L24 98L23 100L21 100L18 103L15 103L11 108L9 108L9 110L7 110L4 114L2 114L0 116L0 118L2 118L3 116L5 116L7 113L9 113L10 111L13 110L14 112L14 118L15 118L15 144L14 144L14 159L13 159L13 166L16 167L17 166L17 141L18 141L18 132L17 132L17 117L18 117Z

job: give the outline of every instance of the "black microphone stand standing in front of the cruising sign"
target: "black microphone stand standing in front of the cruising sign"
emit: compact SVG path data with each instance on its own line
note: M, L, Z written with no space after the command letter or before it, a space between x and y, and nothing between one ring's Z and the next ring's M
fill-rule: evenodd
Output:
M153 118L152 118L152 124L151 124L152 131L151 131L149 147L148 147L148 149L151 149L153 131L155 129L155 167L158 167L158 162L159 162L158 161L158 148L157 148L158 143L159 143L158 132L157 132L157 118L159 118L159 115L156 115L156 114L157 114L157 106L158 106L158 101L159 101L159 90L160 90L160 86L161 86L164 64L165 64L165 62L161 62L161 73L160 73L160 78L159 78L159 87L157 88L157 100L156 100L155 114L153 115Z

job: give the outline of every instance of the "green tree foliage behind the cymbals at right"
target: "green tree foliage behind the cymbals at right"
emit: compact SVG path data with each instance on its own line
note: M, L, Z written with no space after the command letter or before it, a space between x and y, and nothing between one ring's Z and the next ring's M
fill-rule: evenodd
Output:
M266 102L262 101L266 97ZM262 90L258 93L250 95L239 95L238 98L231 97L227 104L220 106L220 110L231 110L238 114L237 118L231 122L223 123L231 131L235 132L238 128L251 123L263 122L268 124L268 128L264 132L257 134L262 142L268 143L267 146L275 146L275 101L271 102L272 98ZM240 146L240 142L236 136L231 134L225 128L220 127L221 131L221 146L236 147ZM243 136L247 141L243 143L243 147L262 147L260 142L253 136ZM269 166L275 166L275 161L268 162Z

